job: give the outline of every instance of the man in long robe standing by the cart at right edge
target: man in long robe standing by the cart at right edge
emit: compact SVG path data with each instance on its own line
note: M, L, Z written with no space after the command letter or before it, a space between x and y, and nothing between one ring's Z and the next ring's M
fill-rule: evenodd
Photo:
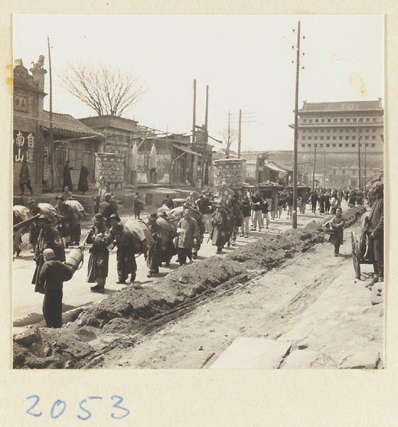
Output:
M384 281L384 185L378 181L373 184L376 200L372 204L368 217L370 258L375 277L365 285L372 288L377 282Z

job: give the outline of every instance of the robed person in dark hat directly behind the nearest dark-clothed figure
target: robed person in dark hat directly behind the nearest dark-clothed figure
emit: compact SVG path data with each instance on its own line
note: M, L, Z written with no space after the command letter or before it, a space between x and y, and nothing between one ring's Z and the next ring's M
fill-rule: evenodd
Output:
M39 216L38 227L40 228L40 233L38 235L33 258L33 260L36 261L36 270L32 279L32 283L35 285L35 292L39 292L40 288L39 276L44 263L43 252L45 249L52 249L55 254L55 259L58 261L65 261L63 238L57 229L50 226L50 218L45 215Z

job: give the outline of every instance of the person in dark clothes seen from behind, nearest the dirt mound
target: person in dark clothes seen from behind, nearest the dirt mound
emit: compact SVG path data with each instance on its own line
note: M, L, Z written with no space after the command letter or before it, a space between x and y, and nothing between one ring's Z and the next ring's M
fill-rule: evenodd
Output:
M53 249L43 251L43 267L38 280L38 292L44 294L43 316L47 327L62 326L63 282L72 278L70 269L55 258Z

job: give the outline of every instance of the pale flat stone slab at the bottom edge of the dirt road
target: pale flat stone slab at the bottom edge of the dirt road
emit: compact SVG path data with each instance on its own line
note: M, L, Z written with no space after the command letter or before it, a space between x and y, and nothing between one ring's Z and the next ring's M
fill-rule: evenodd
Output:
M278 369L290 347L274 339L238 337L209 369Z

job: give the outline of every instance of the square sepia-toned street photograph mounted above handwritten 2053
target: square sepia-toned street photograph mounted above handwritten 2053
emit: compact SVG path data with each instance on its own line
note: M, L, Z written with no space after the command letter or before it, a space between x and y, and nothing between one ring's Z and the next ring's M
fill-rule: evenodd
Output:
M14 370L387 367L382 14L12 34Z

